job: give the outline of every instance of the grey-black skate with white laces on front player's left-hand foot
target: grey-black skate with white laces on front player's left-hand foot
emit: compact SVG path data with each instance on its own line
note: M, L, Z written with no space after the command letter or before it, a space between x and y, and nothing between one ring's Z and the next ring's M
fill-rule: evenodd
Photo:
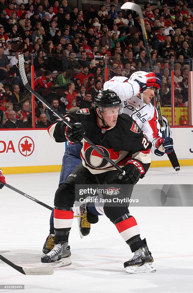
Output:
M61 241L55 244L54 248L48 252L46 255L41 257L41 263L53 263L54 267L59 265L71 265L70 260L70 246L68 242Z

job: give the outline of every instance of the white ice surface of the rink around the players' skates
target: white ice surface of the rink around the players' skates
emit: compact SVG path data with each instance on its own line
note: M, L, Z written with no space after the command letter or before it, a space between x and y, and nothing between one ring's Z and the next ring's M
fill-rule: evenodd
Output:
M53 206L59 173L7 175L6 182ZM193 167L150 168L140 183L193 184ZM41 266L43 243L49 234L50 210L4 187L0 190L0 254L24 267ZM80 239L77 219L70 232L72 265L50 276L26 276L0 261L0 285L25 285L23 293L192 293L193 208L130 207L141 237L146 237L157 272L128 275L123 263L133 255L105 216ZM142 239L143 239L142 238Z

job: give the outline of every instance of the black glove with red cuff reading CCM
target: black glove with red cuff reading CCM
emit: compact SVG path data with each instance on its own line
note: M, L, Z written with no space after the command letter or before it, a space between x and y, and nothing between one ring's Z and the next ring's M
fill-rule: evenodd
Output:
M128 163L123 167L123 170L125 171L125 175L118 173L118 179L120 179L122 182L126 184L133 184L135 185L140 177L141 174L145 173L145 170L143 166L135 160L130 160L131 163Z

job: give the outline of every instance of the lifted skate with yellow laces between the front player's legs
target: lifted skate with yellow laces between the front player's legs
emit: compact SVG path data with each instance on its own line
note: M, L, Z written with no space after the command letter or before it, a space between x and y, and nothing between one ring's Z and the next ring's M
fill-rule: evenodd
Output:
M78 229L80 237L83 238L90 233L90 223L87 221L87 210L85 204L79 206L77 209Z

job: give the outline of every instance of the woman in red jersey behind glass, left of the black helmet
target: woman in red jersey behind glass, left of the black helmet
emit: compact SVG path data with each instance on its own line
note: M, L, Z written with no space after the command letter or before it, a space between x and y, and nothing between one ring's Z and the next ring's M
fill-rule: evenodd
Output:
M71 113L73 111L79 110L77 107L77 96L80 97L80 93L75 92L75 84L74 82L69 82L67 84L67 91L65 91L64 96L60 99L62 103L66 105L66 111Z

